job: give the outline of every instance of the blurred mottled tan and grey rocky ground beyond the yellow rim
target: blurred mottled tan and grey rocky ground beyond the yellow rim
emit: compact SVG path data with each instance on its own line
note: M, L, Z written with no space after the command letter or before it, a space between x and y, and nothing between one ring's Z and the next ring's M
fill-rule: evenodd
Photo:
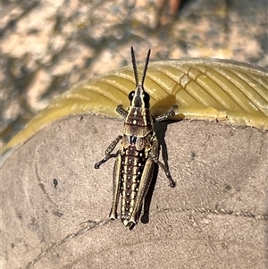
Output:
M266 0L3 0L0 146L81 80L182 57L268 67Z

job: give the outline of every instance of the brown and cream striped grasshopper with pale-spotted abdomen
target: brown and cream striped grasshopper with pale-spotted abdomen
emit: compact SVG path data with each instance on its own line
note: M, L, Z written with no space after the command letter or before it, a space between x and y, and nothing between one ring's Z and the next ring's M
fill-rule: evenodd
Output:
M113 167L113 203L109 219L117 218L117 206L121 196L121 222L132 229L137 223L143 199L150 186L154 166L158 164L163 168L170 186L175 187L171 173L166 165L158 160L159 143L155 135L154 120L150 114L150 96L144 90L143 84L146 77L151 50L148 50L146 63L141 83L138 81L138 70L133 47L131 46L131 60L136 81L135 90L129 94L130 107L128 111L118 105L116 112L125 118L121 134L113 140L105 150L105 157L95 164L98 169L112 156L114 147L121 140L121 147L116 153ZM161 116L155 118L155 122L161 122L174 116L177 105Z

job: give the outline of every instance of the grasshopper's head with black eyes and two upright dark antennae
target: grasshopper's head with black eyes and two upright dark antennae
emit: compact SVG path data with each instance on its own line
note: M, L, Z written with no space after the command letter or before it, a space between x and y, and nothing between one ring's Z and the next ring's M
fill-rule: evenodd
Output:
M143 83L144 83L146 73L147 73L150 53L151 53L151 50L149 49L147 53L147 59L146 59L146 63L145 63L144 71L143 71L142 80L141 80L141 83L139 84L134 49L131 46L131 59L132 59L132 64L133 64L134 76L136 80L136 88L135 90L130 92L129 99L130 99L130 105L134 107L149 108L150 106L150 96L147 94L147 92L143 88Z

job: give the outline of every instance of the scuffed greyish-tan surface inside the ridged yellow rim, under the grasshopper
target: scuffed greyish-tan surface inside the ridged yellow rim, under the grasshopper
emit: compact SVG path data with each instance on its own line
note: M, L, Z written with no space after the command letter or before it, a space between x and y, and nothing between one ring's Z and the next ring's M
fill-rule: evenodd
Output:
M160 170L143 223L128 231L108 222L113 161L93 168L121 125L54 122L5 162L1 268L266 268L266 131L159 124L177 187Z

